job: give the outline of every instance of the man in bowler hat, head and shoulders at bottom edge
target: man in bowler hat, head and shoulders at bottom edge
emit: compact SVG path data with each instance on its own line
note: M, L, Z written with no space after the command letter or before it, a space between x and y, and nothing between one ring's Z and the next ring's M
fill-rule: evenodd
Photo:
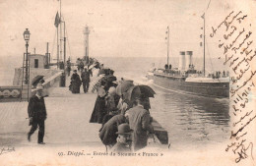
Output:
M111 148L113 152L129 152L131 151L130 144L131 144L131 134L133 130L130 129L128 124L121 124L118 126L118 138L116 139L117 142Z

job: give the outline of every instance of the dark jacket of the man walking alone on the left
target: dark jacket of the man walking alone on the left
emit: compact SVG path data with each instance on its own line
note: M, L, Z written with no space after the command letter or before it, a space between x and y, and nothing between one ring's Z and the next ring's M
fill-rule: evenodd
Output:
M28 114L33 120L44 120L46 118L47 113L43 97L39 99L36 95L32 96L28 106Z

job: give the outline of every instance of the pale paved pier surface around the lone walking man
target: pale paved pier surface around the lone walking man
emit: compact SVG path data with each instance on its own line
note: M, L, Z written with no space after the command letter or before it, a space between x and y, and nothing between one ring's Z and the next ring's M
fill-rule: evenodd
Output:
M82 88L81 88L82 89ZM44 98L47 119L45 121L46 144L58 146L77 143L101 144L98 138L99 124L91 124L96 94L72 94L68 87L53 87ZM37 142L37 131L28 142L30 130L28 102L7 102L0 104L0 143L2 145L24 146Z

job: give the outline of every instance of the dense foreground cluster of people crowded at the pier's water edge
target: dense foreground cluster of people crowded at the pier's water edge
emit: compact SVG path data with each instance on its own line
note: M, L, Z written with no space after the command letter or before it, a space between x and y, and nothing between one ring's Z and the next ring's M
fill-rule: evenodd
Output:
M117 82L114 71L99 66L98 76L103 75L96 87L97 97L90 123L102 124L99 138L111 151L137 151L147 145L154 133L150 116L149 97L140 93L133 99L133 81Z

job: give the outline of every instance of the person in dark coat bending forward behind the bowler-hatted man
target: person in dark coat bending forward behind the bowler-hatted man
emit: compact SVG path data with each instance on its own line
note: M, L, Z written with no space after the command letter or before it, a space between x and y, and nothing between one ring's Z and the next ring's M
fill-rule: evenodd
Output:
M102 140L104 145L109 145L111 147L116 143L117 127L123 123L125 123L125 117L124 115L119 114L113 116L103 125L99 130L99 138Z

